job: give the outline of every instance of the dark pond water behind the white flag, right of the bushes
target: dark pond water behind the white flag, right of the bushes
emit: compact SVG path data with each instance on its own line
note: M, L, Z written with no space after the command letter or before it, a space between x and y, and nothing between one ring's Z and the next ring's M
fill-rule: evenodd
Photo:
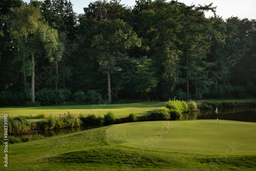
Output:
M218 109L218 114L221 120L256 122L256 108ZM189 113L185 119L217 119L217 114L215 109L201 110Z

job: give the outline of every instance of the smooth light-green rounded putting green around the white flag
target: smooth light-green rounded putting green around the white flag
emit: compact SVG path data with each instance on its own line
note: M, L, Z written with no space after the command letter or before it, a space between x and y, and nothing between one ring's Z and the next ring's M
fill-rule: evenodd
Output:
M219 120L153 121L112 125L108 141L167 152L255 155L256 123Z

